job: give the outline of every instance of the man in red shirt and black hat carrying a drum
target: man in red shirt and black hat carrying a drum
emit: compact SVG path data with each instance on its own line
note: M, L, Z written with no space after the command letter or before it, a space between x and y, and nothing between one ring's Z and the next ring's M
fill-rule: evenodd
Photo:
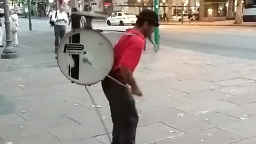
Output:
M133 95L142 96L134 77L133 71L137 67L145 38L150 36L158 27L158 15L151 10L143 10L132 30L121 36L114 46L114 66L109 75L131 90L118 84L109 77L101 82L110 106L113 121L112 144L134 144L138 124L138 113Z

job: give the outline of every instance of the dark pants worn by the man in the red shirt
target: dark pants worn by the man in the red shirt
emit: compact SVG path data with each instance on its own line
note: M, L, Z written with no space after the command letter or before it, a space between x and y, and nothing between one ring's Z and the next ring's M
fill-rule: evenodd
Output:
M113 76L113 75L111 75ZM121 78L113 76L122 82ZM123 83L123 82L122 82ZM113 121L112 144L135 144L138 113L130 90L106 77L101 82Z

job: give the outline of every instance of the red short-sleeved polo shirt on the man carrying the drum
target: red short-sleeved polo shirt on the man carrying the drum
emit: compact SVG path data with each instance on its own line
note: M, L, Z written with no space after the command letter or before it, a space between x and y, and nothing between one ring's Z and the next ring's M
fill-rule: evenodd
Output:
M114 46L114 66L112 72L121 74L120 66L125 66L131 71L137 67L145 46L145 37L139 30L130 29L121 36Z

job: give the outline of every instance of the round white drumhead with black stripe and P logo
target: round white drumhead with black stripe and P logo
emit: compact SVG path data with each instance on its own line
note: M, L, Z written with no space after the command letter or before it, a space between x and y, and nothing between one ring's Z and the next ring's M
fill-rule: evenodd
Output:
M109 39L94 29L77 29L62 38L58 65L63 75L79 85L96 84L105 78L114 62Z

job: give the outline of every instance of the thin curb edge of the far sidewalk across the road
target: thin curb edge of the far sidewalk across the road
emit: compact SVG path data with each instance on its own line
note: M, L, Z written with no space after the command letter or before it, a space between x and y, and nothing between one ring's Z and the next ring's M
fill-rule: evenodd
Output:
M179 24L179 23L160 23L160 25L170 25L170 26L226 26L226 27L256 27L256 25L220 25L220 24Z

